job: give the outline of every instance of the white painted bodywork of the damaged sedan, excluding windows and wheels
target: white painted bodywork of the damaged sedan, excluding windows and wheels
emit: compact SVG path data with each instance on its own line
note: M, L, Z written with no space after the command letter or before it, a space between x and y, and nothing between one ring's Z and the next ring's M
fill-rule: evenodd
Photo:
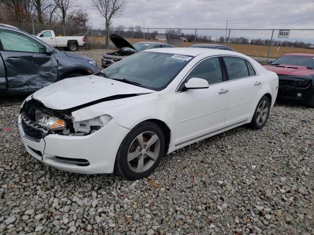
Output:
M96 75L68 78L53 83L33 98L56 110L70 109L118 94L140 94L91 104L72 112L74 121L109 115L112 119L99 131L82 137L48 135L43 162L53 167L78 173L111 173L118 148L130 130L149 119L165 123L170 130L167 153L195 141L206 139L245 123L253 117L258 101L264 94L271 96L273 106L278 91L278 76L265 70L248 56L233 51L207 48L159 48L150 51L195 56L162 91L153 91ZM202 59L215 56L237 56L251 62L257 75L209 85L207 89L178 92L184 77ZM119 62L118 62L119 63ZM255 86L255 82L261 82ZM219 94L221 89L227 93ZM27 97L26 101L31 99ZM29 151L28 141L23 142ZM40 143L38 147L42 148ZM30 145L28 145L30 146ZM31 145L36 148L36 144ZM86 158L89 166L61 164L47 157ZM36 156L35 156L36 157ZM38 156L36 157L38 159Z

